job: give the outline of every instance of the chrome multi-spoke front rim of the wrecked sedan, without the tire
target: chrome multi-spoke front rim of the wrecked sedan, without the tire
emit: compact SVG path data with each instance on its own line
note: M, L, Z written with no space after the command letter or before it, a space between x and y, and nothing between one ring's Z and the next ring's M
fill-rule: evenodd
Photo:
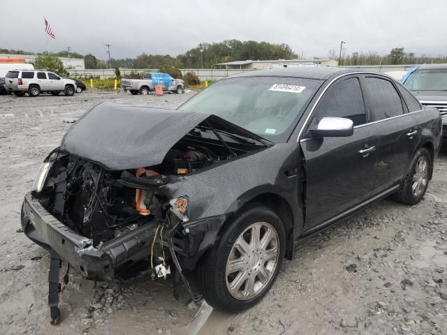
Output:
M226 263L226 287L238 300L261 294L278 265L279 237L272 225L256 222L237 237Z

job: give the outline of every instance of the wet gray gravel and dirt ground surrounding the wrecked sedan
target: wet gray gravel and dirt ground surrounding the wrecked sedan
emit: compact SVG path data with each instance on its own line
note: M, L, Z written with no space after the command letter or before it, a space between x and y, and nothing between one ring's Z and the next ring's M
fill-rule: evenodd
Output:
M170 281L94 290L73 270L61 325L50 326L49 255L16 230L38 164L89 106L170 108L192 94L0 96L0 334L186 334L196 309L173 299ZM446 334L446 209L444 151L420 204L383 200L309 239L261 304L239 315L214 311L200 334Z

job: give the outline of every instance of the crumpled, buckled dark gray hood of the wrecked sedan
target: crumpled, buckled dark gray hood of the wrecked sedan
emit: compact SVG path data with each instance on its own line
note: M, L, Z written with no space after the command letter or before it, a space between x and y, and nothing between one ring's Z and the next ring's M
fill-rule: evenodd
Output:
M108 170L157 165L203 121L221 131L269 142L212 114L99 103L68 129L61 150Z

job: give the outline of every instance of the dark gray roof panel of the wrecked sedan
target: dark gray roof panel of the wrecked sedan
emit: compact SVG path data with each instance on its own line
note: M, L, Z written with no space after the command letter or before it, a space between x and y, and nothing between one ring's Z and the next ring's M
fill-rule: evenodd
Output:
M328 79L335 74L354 72L351 69L335 68L330 66L303 66L300 68L270 68L268 70L256 70L230 77L297 77L309 79Z

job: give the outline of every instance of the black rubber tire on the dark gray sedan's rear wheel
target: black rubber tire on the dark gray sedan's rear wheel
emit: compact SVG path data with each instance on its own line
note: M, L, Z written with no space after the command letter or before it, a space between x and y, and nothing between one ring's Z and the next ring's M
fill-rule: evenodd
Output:
M422 184L420 184L420 188L418 188L418 192L416 192L413 189L415 183L414 179L416 178L416 172L421 160L426 160L427 162L426 182L425 184L423 184L423 179L417 178L418 180L422 180ZM404 204L417 204L418 202L420 202L420 200L424 198L425 191L427 191L431 171L432 156L427 149L420 148L411 161L409 170L406 172L404 180L402 181L402 184L400 184L400 188L395 194L395 199ZM421 173L421 175L423 175L423 173Z

